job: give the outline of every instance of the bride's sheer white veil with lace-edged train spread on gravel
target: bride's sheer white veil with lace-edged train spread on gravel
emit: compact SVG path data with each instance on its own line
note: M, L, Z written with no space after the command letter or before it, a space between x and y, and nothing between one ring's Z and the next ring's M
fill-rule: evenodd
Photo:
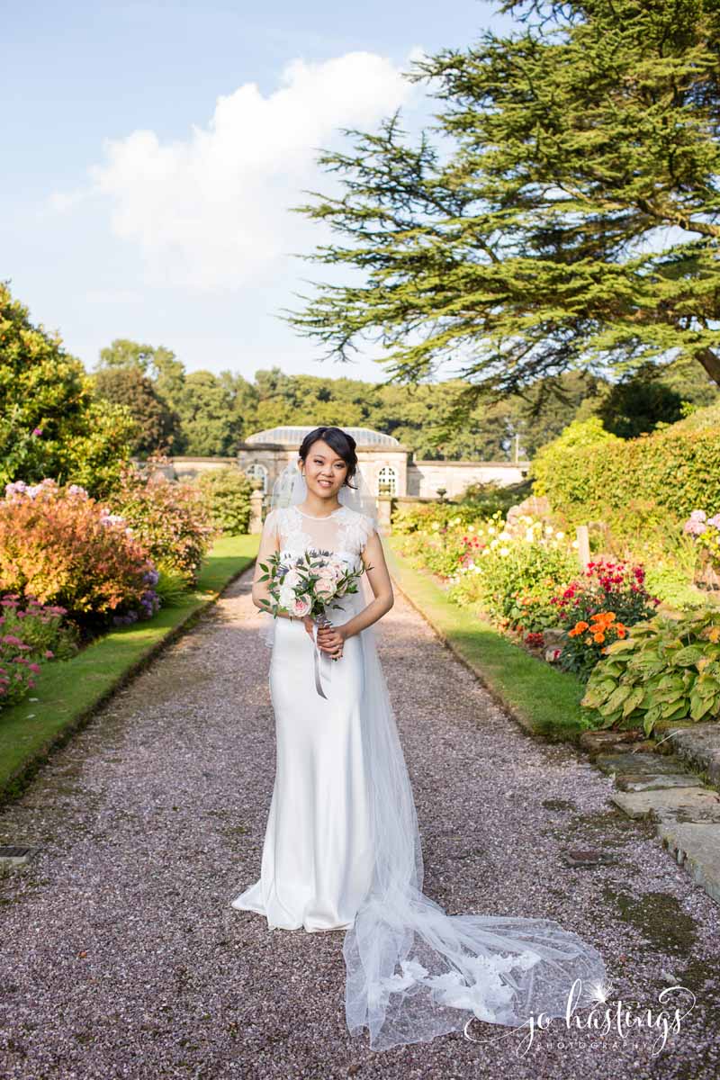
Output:
M284 504L301 502L305 495L304 481L288 469L277 485ZM355 499L367 513L367 485L358 478L358 492L341 501L352 505ZM361 581L369 603L369 582L365 576ZM447 915L423 894L418 818L375 626L359 637L375 865L343 942L350 1031L367 1027L370 1047L385 1050L462 1030L474 1016L520 1027L540 1012L565 1016L576 980L574 1009L596 1004L606 967L597 949L574 932L549 919Z

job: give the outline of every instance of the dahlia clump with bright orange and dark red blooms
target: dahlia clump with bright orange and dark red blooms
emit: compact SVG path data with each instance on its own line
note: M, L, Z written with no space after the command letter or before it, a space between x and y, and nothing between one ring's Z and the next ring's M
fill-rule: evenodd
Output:
M584 577L552 603L567 630L558 665L587 678L607 647L624 638L628 626L654 615L660 600L644 588L641 566L600 559L588 563Z

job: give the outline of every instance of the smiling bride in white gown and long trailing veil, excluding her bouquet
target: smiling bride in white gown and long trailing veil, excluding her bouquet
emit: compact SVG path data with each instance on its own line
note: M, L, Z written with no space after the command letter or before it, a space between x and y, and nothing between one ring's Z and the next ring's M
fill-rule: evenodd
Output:
M370 1047L433 1039L477 1017L520 1027L597 1003L600 954L557 922L447 915L422 892L412 791L372 624L393 606L375 500L355 441L321 427L273 487L253 581L262 563L308 549L364 567L357 593L309 617L262 615L272 646L276 769L259 879L231 906L268 927L344 930L345 1018ZM480 895L478 892L478 902ZM579 981L573 990L573 983Z

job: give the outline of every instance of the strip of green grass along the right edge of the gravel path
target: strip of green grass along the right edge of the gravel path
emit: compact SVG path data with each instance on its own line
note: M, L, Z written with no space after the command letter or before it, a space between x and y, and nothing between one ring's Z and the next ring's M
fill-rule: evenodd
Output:
M451 604L429 571L413 569L398 550L402 537L383 538L397 584L450 648L525 728L553 739L574 740L581 725L584 684L530 656L468 608Z

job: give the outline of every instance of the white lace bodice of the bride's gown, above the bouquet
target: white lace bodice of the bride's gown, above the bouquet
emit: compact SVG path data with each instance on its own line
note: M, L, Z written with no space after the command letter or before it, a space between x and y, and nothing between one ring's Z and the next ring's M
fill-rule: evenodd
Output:
M367 514L350 507L340 507L327 517L311 517L297 507L284 507L270 511L264 528L277 536L281 553L301 555L308 548L316 548L355 564L375 525Z

